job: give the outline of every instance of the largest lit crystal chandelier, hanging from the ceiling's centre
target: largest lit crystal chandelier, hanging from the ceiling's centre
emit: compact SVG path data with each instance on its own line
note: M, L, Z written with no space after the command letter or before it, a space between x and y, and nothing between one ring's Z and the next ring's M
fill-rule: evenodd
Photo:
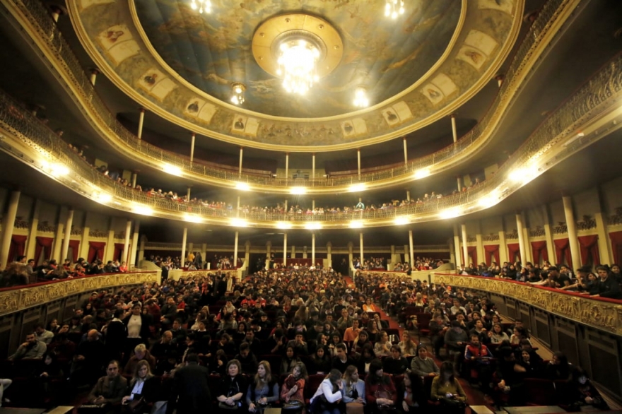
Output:
M276 74L283 79L283 88L288 93L304 95L318 80L315 66L319 49L304 39L286 40L279 49Z

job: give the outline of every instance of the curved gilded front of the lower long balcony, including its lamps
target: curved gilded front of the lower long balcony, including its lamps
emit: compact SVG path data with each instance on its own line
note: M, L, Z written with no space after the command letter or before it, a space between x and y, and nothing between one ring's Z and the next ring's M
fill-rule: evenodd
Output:
M178 203L120 184L101 175L70 150L49 127L7 95L0 99L2 150L80 194L119 210L192 223L266 228L358 228L405 225L453 218L495 206L570 155L622 125L622 54L609 61L539 126L498 172L469 191L389 210L347 214L267 214L214 210ZM69 174L71 172L71 174Z

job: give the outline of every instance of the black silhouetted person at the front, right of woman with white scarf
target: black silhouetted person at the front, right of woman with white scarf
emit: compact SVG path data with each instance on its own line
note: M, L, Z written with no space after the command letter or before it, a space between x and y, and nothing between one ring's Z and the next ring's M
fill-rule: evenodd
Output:
M175 372L166 414L203 414L212 409L209 371L199 365L199 356L190 354L186 365Z

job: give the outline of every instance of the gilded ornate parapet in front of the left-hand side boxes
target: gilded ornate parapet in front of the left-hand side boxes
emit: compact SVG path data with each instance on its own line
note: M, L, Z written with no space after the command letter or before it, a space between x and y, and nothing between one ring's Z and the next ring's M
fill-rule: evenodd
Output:
M160 272L115 273L114 275L89 276L0 292L0 316L19 312L71 295L118 286L160 283Z

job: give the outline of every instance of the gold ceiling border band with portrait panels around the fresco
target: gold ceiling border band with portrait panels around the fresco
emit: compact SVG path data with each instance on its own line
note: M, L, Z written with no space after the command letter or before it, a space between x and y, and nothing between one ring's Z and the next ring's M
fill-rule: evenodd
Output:
M148 42L133 2L81 0L68 4L78 38L98 67L148 110L236 145L298 152L384 142L454 112L493 78L510 52L520 30L524 1L512 0L509 5L462 0L450 47L428 73L391 99L334 117L283 118L215 100L183 81ZM233 128L240 118L245 128Z

